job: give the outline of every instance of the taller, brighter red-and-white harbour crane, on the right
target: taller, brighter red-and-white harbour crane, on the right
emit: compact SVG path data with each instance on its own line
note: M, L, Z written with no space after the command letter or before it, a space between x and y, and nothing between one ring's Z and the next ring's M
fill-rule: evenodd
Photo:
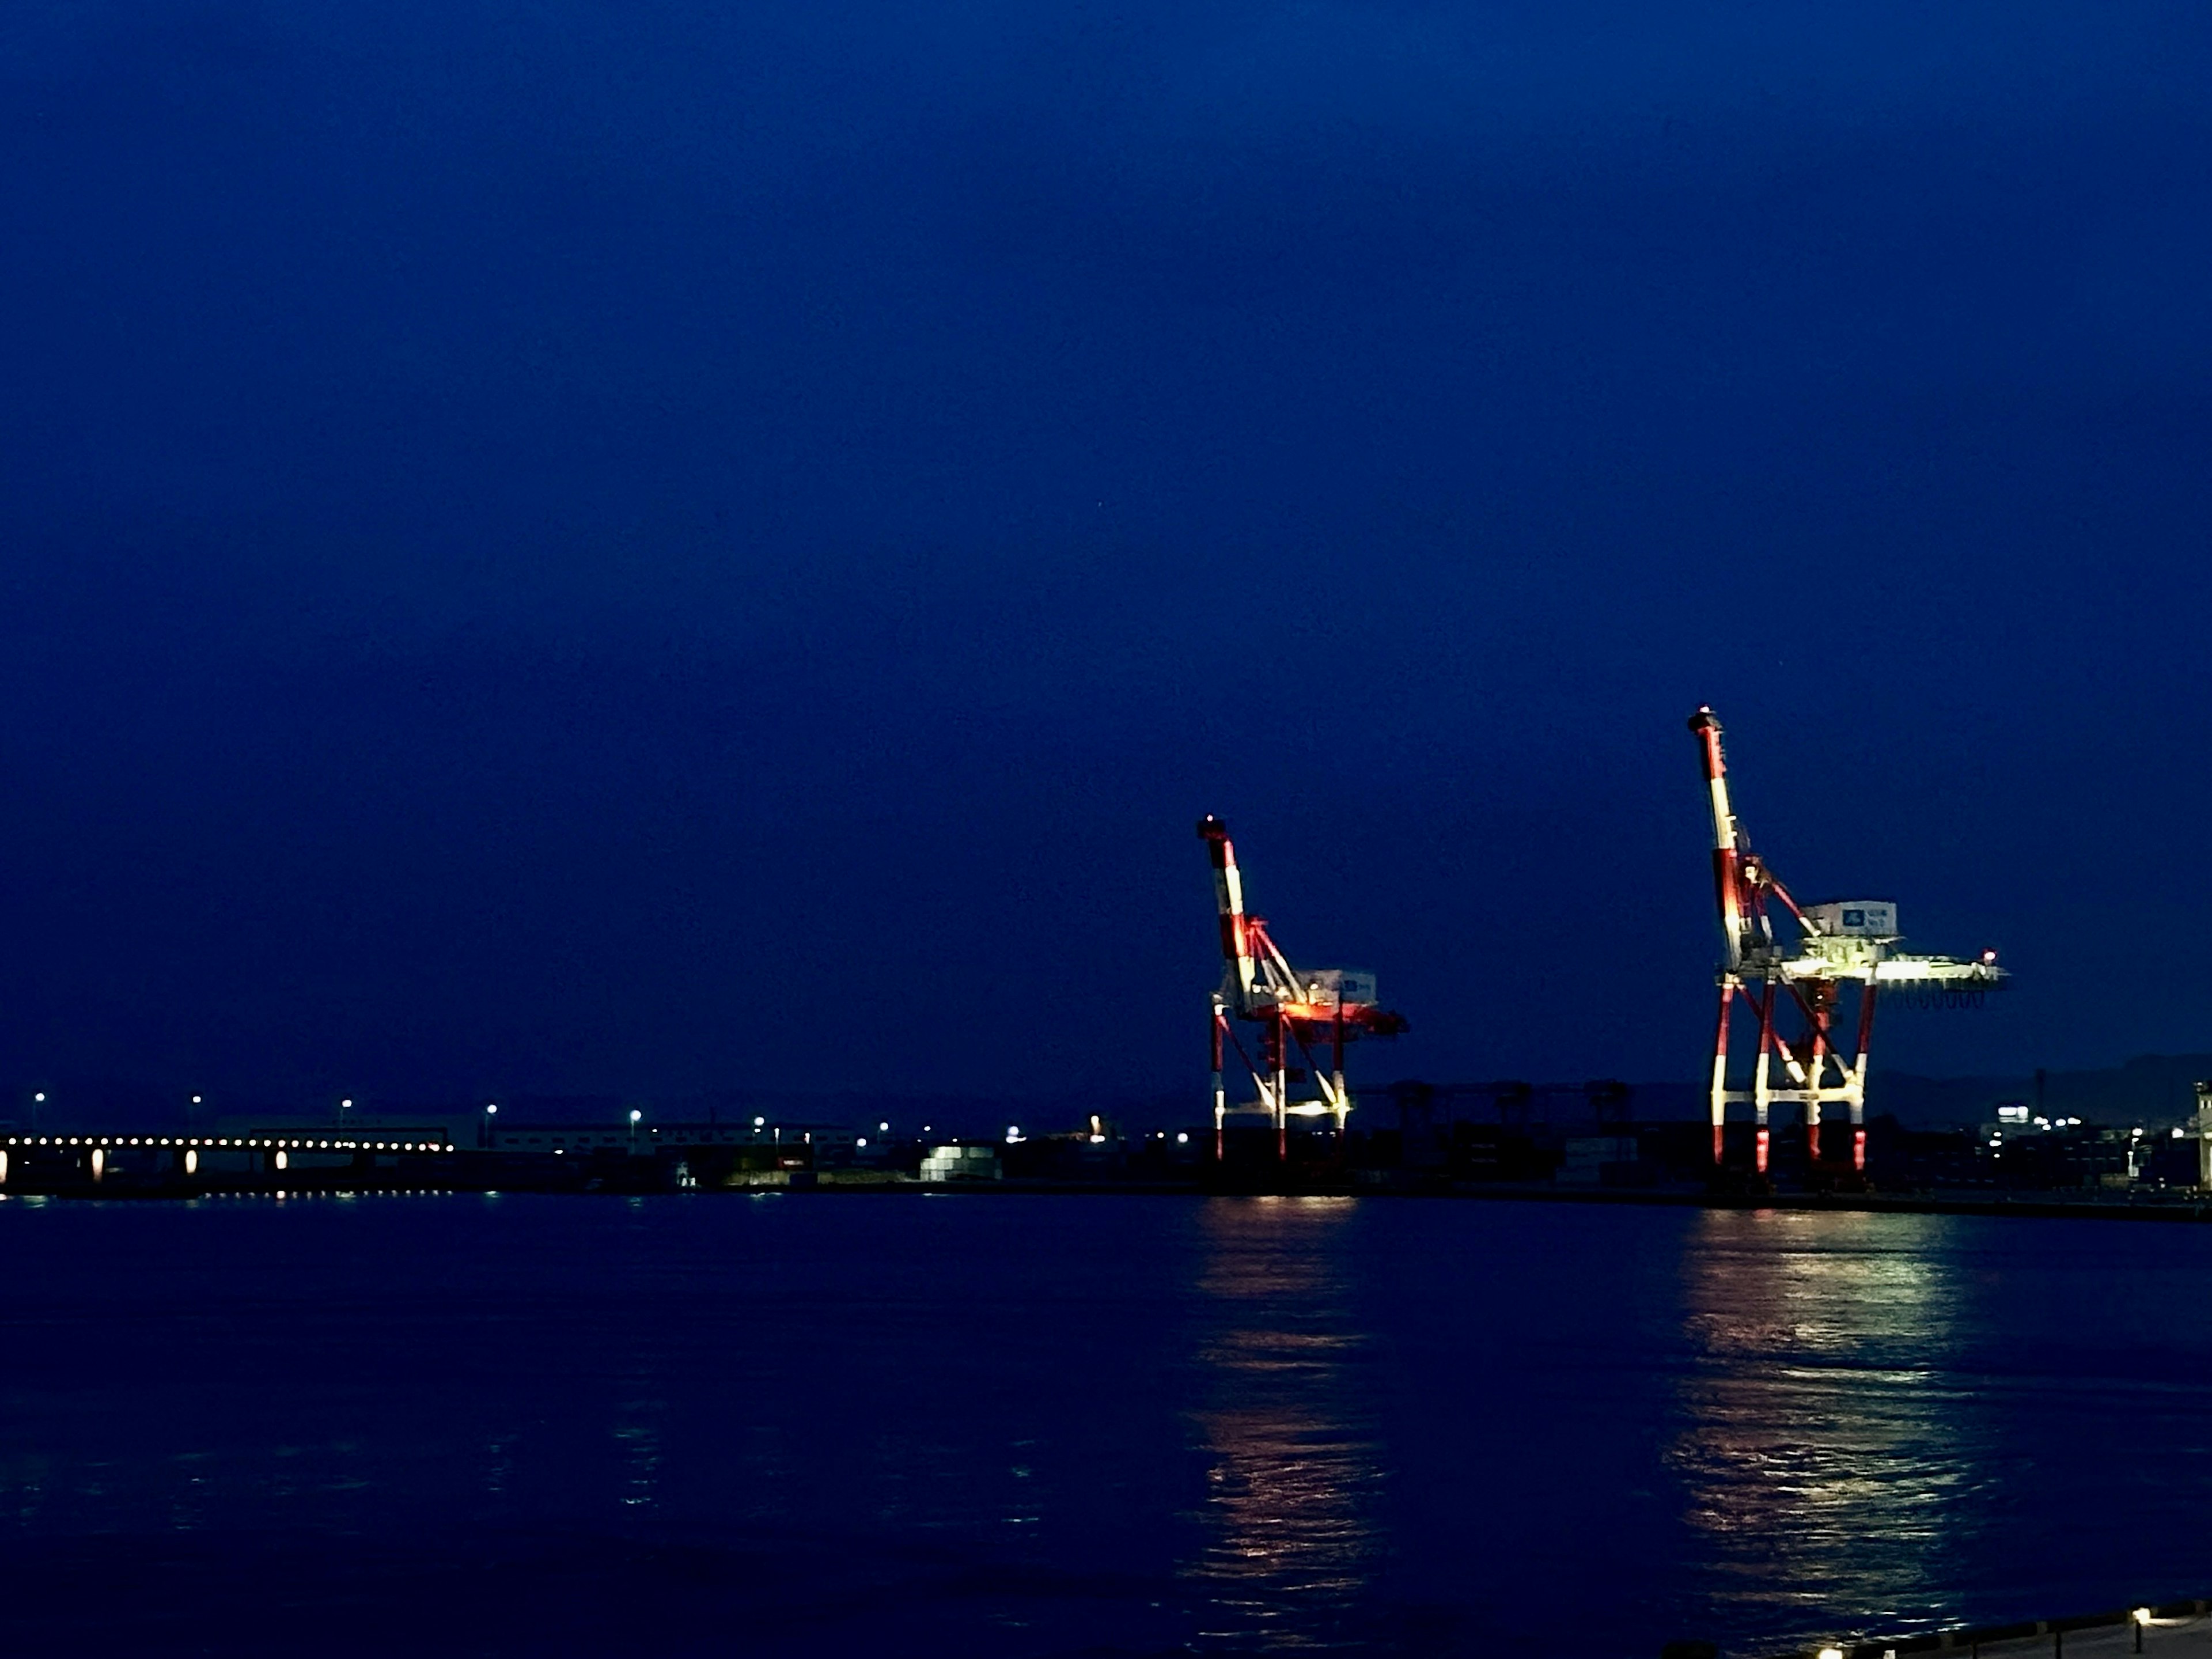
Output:
M1736 823L1721 757L1721 721L1710 708L1690 717L1705 763L1712 799L1712 887L1721 907L1721 1018L1712 1044L1712 1161L1730 1104L1750 1104L1756 1119L1754 1166L1767 1170L1767 1117L1774 1106L1805 1108L1805 1144L1820 1161L1820 1113L1838 1104L1851 1113L1851 1168L1867 1168L1867 1048L1874 1042L1874 1004L1885 989L1980 993L2008 978L1995 951L1973 960L1907 956L1898 951L1898 907L1887 898L1798 905ZM1787 911L1796 938L1776 938L1767 902ZM1858 1035L1851 1053L1836 1040L1838 989L1858 984ZM1747 1088L1730 1086L1730 1015L1736 998L1759 1020L1759 1048ZM1790 1026L1785 1031L1783 1026ZM1787 1082L1774 1084L1781 1060Z

